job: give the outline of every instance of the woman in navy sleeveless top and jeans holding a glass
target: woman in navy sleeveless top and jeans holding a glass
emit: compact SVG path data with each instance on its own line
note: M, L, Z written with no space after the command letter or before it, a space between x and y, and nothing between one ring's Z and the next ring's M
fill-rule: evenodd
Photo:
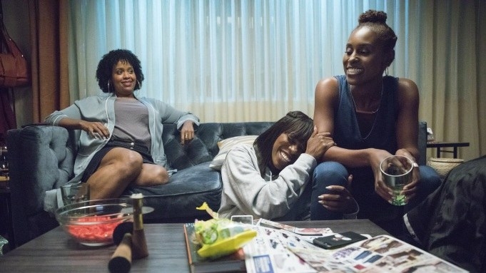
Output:
M396 220L440 185L435 170L414 164L413 180L404 190L407 205L390 204L392 192L379 165L390 155L417 162L419 94L410 79L388 76L397 36L386 19L383 11L361 14L345 45L345 75L325 78L315 88L315 125L330 132L337 146L314 170L313 187L322 190L313 190L312 220L342 219L356 210L358 218L395 233ZM358 208L349 206L346 191Z

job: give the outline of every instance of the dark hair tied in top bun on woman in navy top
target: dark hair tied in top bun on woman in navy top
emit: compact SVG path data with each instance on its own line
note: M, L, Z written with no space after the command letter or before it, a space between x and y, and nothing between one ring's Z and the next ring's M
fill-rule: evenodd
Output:
M375 11L370 9L360 15L358 19L358 26L356 26L354 31L361 29L363 26L367 26L371 31L375 32L378 39L383 42L383 49L385 52L393 51L398 38L395 35L395 31L393 31L393 29L386 24L387 18L388 16L384 11ZM390 63L394 58L395 54L393 54L393 58L390 60Z

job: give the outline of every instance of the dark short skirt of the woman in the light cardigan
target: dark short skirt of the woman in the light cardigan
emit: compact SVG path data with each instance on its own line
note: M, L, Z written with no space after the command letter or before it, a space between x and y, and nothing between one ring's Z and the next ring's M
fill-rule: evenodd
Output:
M113 148L126 148L128 150L134 150L142 156L143 163L154 164L152 155L145 145L140 145L131 141L111 138L108 143L106 143L106 145L101 148L101 150L98 150L98 152L93 155L93 158L91 158L91 161L88 163L88 166L83 172L81 182L88 181L89 177L91 177L91 175L93 175L93 173L98 170L101 160L103 160L105 155Z

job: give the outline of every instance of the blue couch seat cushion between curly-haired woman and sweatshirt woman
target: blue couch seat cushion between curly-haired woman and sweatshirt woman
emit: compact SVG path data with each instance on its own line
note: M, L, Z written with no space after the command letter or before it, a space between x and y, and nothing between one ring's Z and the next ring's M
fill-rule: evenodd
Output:
M166 185L130 187L123 195L143 194L144 205L155 209L143 216L147 220L207 218L206 211L196 210L196 207L207 202L213 210L218 210L221 202L221 175L209 168L209 163L178 170Z

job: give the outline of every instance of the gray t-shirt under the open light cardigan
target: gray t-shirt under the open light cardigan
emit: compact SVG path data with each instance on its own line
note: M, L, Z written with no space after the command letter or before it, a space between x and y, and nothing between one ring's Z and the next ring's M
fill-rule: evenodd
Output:
M116 98L115 121L114 137L144 145L150 151L151 135L146 105L136 98Z

